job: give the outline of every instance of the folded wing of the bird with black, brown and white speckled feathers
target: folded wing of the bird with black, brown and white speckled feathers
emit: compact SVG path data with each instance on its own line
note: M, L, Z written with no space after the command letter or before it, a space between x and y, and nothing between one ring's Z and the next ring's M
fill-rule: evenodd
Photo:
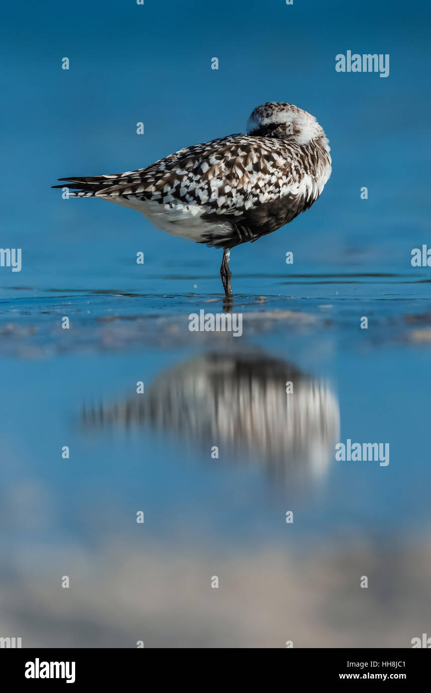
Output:
M289 146L230 135L175 152L127 173L69 177L77 196L134 197L161 204L202 204L208 213L239 216L257 204L295 195L302 175ZM60 186L58 186L60 187Z

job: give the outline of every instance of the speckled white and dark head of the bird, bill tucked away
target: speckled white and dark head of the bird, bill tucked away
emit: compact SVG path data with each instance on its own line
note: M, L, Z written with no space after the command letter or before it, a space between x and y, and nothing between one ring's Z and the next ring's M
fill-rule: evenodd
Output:
M248 119L247 134L290 139L298 144L322 139L327 143L315 117L291 103L268 102L257 106Z

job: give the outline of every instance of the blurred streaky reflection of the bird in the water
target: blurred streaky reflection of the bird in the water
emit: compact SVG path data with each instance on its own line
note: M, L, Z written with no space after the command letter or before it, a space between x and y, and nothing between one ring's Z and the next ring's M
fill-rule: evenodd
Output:
M291 385L290 385L291 383ZM291 391L291 392L286 392ZM331 387L265 353L210 353L163 371L124 401L84 407L86 427L148 426L273 477L322 475L339 439Z

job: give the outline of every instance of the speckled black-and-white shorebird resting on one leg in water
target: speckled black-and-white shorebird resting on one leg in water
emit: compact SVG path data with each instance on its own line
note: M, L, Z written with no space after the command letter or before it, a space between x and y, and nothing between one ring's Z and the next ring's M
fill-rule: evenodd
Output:
M58 180L67 182L68 197L131 207L172 236L223 249L221 281L231 300L231 249L309 209L331 175L329 152L313 115L268 101L253 110L246 134L185 147L126 173Z

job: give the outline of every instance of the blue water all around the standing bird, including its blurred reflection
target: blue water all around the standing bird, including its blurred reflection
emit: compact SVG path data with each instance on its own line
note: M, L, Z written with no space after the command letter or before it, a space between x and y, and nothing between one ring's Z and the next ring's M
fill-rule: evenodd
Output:
M428 5L4 15L1 246L22 269L0 267L0 635L410 647L431 597L431 269L410 262L431 243ZM389 77L336 73L348 49L389 53ZM50 186L244 131L266 100L318 117L333 174L232 251L241 337L193 333L223 309L219 252ZM347 439L389 443L389 464L337 462Z

